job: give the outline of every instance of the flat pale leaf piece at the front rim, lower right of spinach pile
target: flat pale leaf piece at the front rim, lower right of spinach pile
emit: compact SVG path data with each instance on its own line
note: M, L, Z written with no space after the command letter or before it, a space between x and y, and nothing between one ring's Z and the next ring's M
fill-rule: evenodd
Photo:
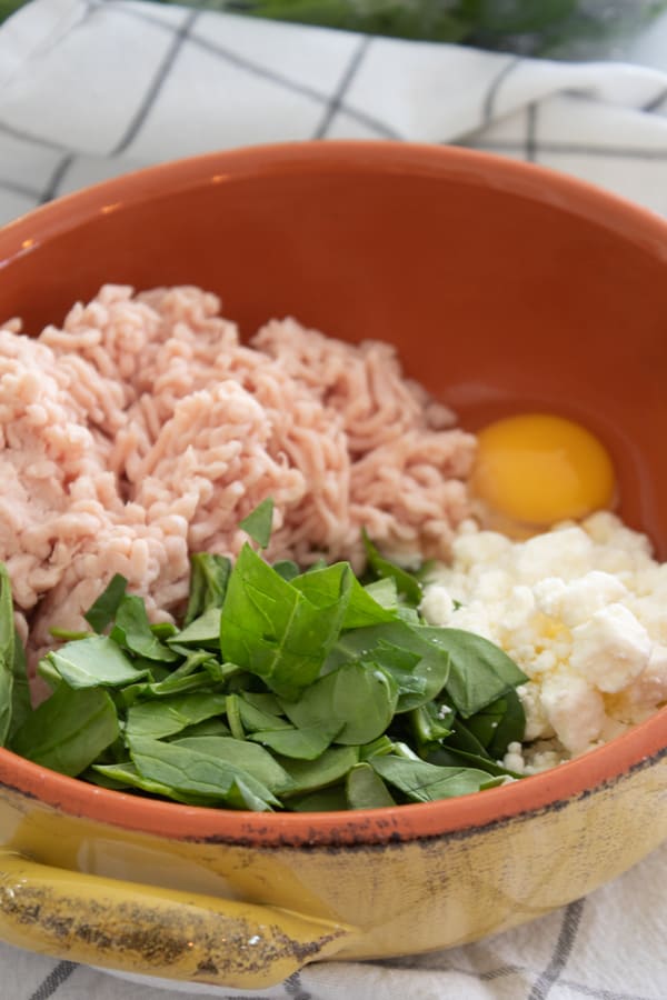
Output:
M435 802L467 796L488 787L489 774L475 768L439 768L424 760L387 754L371 757L370 766L389 784L415 802Z

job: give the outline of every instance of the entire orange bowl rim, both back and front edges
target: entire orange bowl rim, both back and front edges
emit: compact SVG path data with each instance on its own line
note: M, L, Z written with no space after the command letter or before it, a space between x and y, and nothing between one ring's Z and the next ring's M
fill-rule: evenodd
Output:
M547 167L460 147L389 140L316 140L187 157L101 181L0 228L0 271L100 214L207 184L298 173L408 173L464 178L593 219L667 261L667 220ZM667 756L667 707L586 754L510 784L429 803L348 812L253 813L111 791L0 748L0 783L61 812L172 839L303 846L404 841L460 833L558 808Z

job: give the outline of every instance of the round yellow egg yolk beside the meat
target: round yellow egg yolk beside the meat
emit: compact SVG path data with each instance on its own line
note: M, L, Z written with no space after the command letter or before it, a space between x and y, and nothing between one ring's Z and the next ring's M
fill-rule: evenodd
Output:
M541 529L614 500L606 449L571 420L547 413L506 417L479 431L477 440L471 489L496 523Z

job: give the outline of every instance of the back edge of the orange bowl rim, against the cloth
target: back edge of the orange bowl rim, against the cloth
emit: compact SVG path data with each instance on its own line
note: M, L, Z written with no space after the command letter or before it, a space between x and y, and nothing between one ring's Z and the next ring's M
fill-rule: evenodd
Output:
M536 198L593 219L644 243L667 260L667 219L644 206L550 167L467 147L394 139L293 140L205 152L141 167L98 181L0 226L0 271L14 257L36 252L49 238L97 214L110 214L141 201L258 177L354 171L421 177L460 177ZM34 233L31 236L33 226ZM12 246L13 244L13 246Z

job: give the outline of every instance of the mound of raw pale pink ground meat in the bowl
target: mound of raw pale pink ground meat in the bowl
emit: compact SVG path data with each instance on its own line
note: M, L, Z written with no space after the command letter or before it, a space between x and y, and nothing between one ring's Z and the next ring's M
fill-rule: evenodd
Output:
M394 349L271 320L249 346L197 288L106 286L62 329L0 329L0 560L34 663L115 572L169 620L189 554L236 554L275 501L269 559L446 558L475 439Z

